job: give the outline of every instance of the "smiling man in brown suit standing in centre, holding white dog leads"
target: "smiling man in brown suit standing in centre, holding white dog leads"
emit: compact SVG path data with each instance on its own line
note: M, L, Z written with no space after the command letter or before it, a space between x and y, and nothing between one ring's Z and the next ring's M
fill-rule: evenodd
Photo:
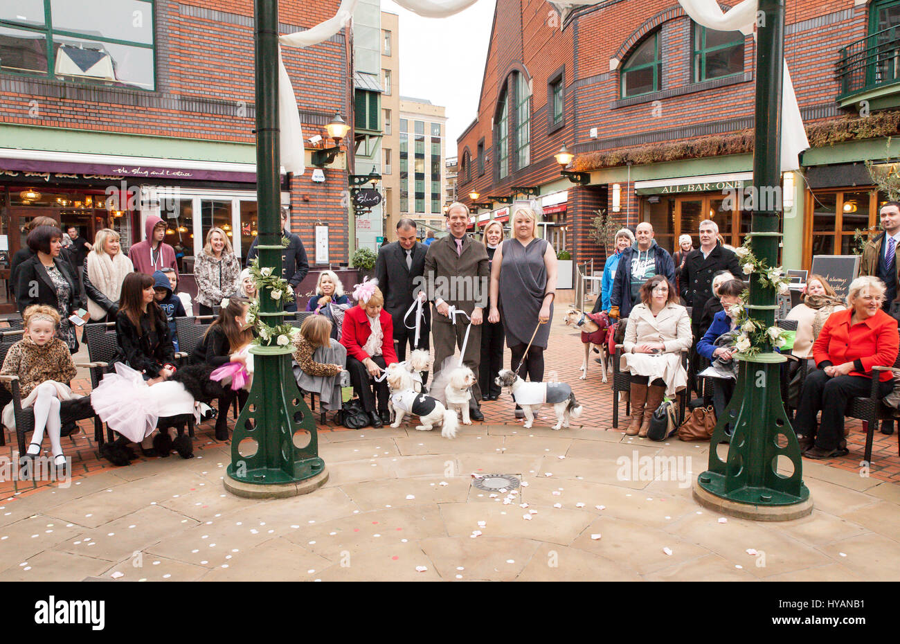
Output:
M435 305L431 325L435 340L434 377L437 379L444 360L454 355L456 347L463 348L468 321L463 315L456 321L449 317L450 306L454 306L472 319L463 364L472 369L475 376L469 416L483 421L479 407L482 390L478 385L478 367L482 359L483 309L487 304L490 278L488 251L481 241L471 239L465 232L469 226L469 209L465 204L450 204L445 216L450 234L432 242L425 256L426 291Z

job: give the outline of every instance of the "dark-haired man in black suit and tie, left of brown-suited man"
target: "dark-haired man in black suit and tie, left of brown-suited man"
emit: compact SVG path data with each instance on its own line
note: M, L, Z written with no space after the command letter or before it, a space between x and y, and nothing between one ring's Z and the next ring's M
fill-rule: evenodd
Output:
M404 322L404 314L422 290L422 274L425 272L425 254L428 247L416 241L416 222L401 219L397 222L397 241L385 244L378 250L375 260L375 277L384 295L384 310L391 313L394 326L394 340L397 340L397 359L406 359L406 346L410 349L428 350L428 331L431 327L431 312L428 306L422 308L425 320L419 327L419 344L416 344L415 311ZM408 328L413 327L412 329ZM423 374L427 382L428 373Z

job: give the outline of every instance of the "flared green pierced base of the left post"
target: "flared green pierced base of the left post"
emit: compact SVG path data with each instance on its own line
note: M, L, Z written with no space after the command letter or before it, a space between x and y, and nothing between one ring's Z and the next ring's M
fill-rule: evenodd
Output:
M253 387L231 437L225 489L247 498L308 494L329 479L319 458L316 422L291 372L291 351L251 347ZM309 439L305 445L297 441ZM241 450L252 454L241 454Z

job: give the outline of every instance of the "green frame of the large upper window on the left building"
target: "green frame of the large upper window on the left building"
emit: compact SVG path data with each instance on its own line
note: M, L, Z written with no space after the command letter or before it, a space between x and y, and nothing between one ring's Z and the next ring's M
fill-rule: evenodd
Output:
M143 2L149 6L149 12L153 20L152 25L152 33L151 33L151 41L150 43L146 42L137 42L137 41L126 41L117 38L108 38L106 36L98 36L90 33L82 33L82 32L70 32L68 30L57 30L53 28L53 20L52 20L52 12L50 2L51 0L43 0L44 5L44 23L40 26L30 25L26 23L22 23L14 20L0 20L0 27L5 27L7 29L15 29L23 32L31 32L31 33L40 33L43 34L45 39L45 50L47 57L47 70L44 73L40 73L37 71L14 71L12 69L0 69L0 74L9 74L11 76L21 76L21 77L31 77L31 78L50 78L52 80L56 80L61 83L74 83L76 85L84 85L89 87L103 87L104 89L124 89L130 91L137 92L151 92L157 93L158 90L158 60L157 60L157 0L134 0L135 2ZM135 47L139 49L150 50L151 52L151 63L150 66L152 68L153 75L153 86L151 88L141 87L136 85L130 85L128 83L122 82L121 86L117 85L106 85L108 81L104 81L102 79L91 79L89 77L67 77L67 76L57 76L53 71L56 68L56 49L54 48L54 36L59 36L62 38L68 39L78 39L82 41L94 41L94 42L102 42L102 43L110 43L113 45L122 45L125 47Z

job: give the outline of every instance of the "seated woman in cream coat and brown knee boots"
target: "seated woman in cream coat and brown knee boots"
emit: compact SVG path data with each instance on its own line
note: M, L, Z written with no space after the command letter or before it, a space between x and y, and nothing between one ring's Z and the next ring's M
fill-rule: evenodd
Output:
M622 368L631 372L628 436L646 436L662 396L688 385L681 350L689 349L692 341L688 309L678 304L675 287L664 275L644 282L641 304L628 316L623 343Z

